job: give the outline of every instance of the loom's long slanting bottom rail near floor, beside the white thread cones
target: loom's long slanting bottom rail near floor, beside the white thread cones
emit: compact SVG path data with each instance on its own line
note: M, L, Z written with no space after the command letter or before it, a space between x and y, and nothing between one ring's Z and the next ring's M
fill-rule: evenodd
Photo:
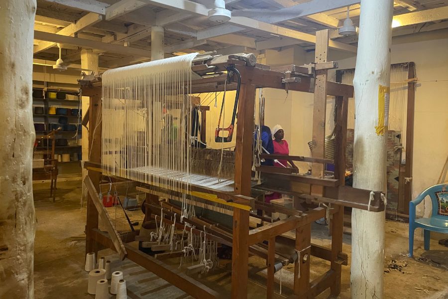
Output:
M98 229L94 229L93 234L95 240L106 247L114 249L112 240L108 234L103 233ZM128 244L125 244L125 249L129 260L149 270L161 279L166 280L168 283L176 286L192 297L211 299L221 297L218 292L210 289L191 277L188 277L185 273L180 272L178 266L169 266Z

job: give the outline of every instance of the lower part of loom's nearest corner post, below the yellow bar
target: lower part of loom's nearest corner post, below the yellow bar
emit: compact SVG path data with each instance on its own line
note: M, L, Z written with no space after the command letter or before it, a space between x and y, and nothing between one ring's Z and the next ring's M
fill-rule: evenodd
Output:
M233 209L232 299L247 298L249 211Z

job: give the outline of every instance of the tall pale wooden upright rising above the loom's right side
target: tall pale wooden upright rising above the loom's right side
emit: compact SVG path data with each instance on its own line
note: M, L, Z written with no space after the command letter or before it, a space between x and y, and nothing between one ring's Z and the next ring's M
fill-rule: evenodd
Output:
M327 62L328 55L328 29L316 32L316 63ZM327 114L327 77L328 70L316 70L313 105L313 144L311 152L313 158L323 158L325 153L325 123ZM323 178L324 165L313 163L311 166L313 176ZM323 187L312 185L311 193L322 195Z

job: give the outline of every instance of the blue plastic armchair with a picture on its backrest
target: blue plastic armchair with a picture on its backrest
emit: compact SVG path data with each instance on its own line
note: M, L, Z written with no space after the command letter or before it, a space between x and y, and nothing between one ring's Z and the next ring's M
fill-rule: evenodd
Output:
M433 203L432 216L430 218L415 219L415 207L422 202L426 196L431 197ZM409 256L414 252L414 231L423 228L425 250L429 250L430 231L448 234L448 184L429 187L416 199L409 202Z

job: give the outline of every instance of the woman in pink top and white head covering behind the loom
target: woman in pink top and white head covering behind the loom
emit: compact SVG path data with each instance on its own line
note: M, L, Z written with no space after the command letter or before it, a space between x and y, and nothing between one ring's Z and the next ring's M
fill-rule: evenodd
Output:
M289 146L288 142L284 140L285 132L283 131L282 126L276 125L272 129L272 135L274 136L274 152L272 154L282 154L289 155ZM288 165L289 163L289 165ZM299 168L294 164L292 160L281 159L274 160L274 166L276 167L286 167L286 168L294 168L293 172L299 172ZM272 194L265 195L265 201L270 202L272 199L282 198L282 194L278 192L273 192Z

